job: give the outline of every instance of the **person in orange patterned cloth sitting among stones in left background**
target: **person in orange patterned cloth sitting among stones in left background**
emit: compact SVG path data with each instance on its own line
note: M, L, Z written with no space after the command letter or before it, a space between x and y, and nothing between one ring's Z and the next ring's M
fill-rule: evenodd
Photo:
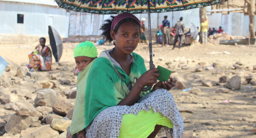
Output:
M30 71L35 70L50 70L52 65L51 49L45 45L46 39L41 37L39 39L40 45L36 46L36 51L29 53L29 64L27 67ZM41 48L42 47L42 48Z

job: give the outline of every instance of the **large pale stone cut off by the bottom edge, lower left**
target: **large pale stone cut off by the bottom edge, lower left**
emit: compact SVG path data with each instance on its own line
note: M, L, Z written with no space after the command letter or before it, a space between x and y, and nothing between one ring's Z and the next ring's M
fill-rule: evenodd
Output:
M24 135L20 138L57 138L59 136L58 131L53 130L50 125L43 125L38 127L31 133Z

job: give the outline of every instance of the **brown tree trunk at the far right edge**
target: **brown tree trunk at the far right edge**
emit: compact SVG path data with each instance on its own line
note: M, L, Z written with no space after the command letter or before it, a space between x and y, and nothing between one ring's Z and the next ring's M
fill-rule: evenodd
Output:
M244 0L245 3L247 3L247 11L250 18L250 24L249 24L249 31L250 35L249 38L255 38L255 19L254 19L254 12L255 12L255 0Z

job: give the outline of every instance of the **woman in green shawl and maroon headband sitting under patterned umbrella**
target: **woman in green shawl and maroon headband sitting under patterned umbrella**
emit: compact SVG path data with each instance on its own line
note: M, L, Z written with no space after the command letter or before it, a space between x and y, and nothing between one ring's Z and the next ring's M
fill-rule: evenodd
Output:
M115 46L79 73L70 133L79 133L78 138L154 138L165 126L168 134L173 130L172 136L181 138L183 119L168 91L175 83L172 78L157 82L158 69L147 71L133 52L140 21L129 13L111 18L101 30ZM153 84L152 90L142 91Z

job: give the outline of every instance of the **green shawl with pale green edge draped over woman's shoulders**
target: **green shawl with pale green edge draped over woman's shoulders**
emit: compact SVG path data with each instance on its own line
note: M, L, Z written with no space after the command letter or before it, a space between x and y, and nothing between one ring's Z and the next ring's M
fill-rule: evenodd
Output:
M105 51L79 73L76 103L70 125L72 135L86 128L102 110L122 101L130 92L127 87L129 82L134 86L134 77L140 78L146 72L144 59L135 53L132 56L134 61L129 76L122 68L115 66L123 81ZM147 93L149 91L141 92L140 98Z

